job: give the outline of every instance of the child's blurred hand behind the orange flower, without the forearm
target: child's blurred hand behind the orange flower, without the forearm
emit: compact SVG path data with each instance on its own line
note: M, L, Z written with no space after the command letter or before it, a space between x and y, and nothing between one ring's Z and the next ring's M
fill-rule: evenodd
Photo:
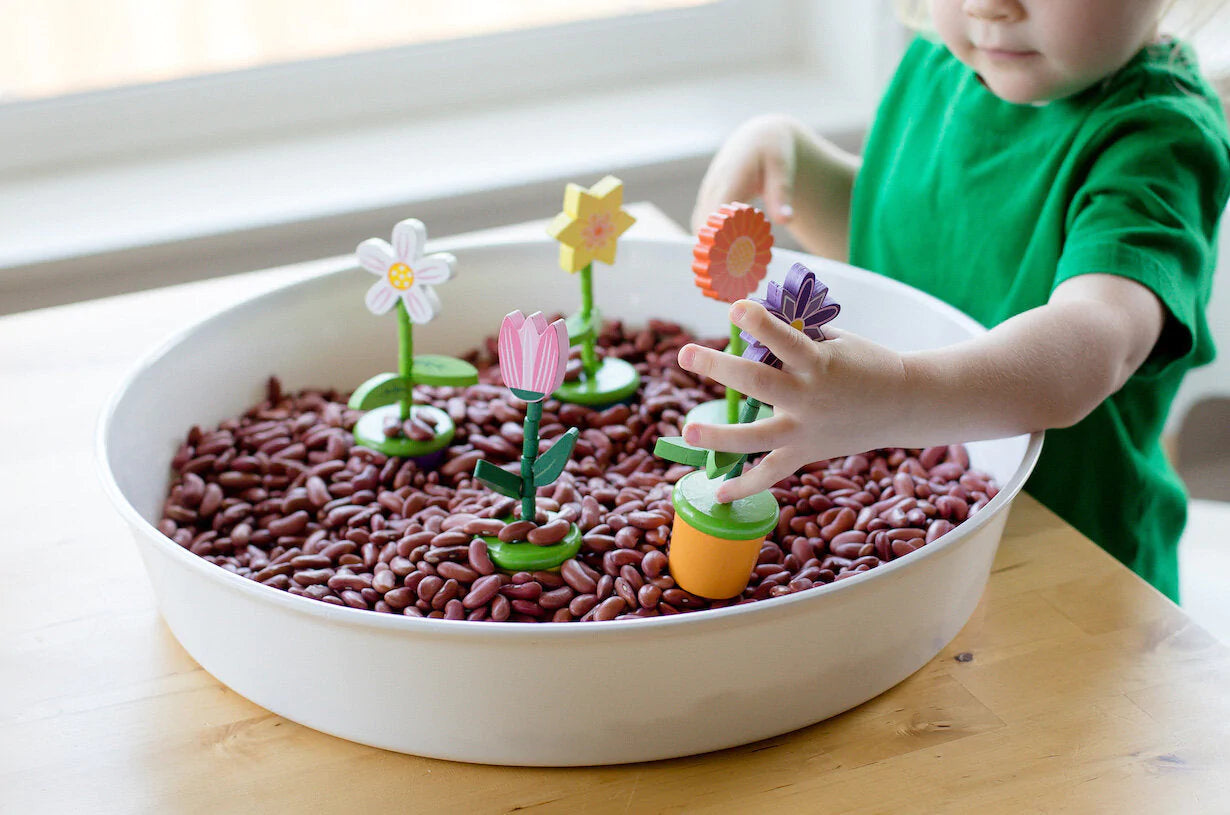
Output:
M796 133L801 124L784 116L761 116L731 134L701 181L692 209L692 232L718 207L761 198L770 220L788 224L792 208Z

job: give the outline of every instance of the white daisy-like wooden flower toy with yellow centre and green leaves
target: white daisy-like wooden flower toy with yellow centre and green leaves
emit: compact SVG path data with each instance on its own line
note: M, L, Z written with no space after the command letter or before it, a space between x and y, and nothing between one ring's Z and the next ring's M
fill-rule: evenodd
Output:
M433 285L453 277L451 254L423 254L427 229L413 218L394 226L392 243L373 237L359 243L355 258L380 278L368 289L371 313L397 310L397 372L373 376L351 395L349 406L367 411L354 425L354 439L390 456L411 456L434 466L453 440L449 414L415 404L415 385L465 386L478 381L474 365L440 355L415 356L415 325L429 322L440 310Z

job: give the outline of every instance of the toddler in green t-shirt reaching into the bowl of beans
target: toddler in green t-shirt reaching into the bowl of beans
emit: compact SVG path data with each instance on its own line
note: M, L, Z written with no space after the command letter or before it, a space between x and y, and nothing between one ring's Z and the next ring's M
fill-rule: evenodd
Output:
M688 441L769 450L733 500L804 463L1047 430L1026 489L1171 599L1186 520L1162 452L1184 372L1213 358L1204 309L1230 135L1165 0L929 0L862 157L781 117L713 159L697 225L763 198L811 252L929 291L990 331L902 354L827 342L742 300L731 318L782 370L697 345L679 363L774 406ZM834 293L840 300L840 293Z

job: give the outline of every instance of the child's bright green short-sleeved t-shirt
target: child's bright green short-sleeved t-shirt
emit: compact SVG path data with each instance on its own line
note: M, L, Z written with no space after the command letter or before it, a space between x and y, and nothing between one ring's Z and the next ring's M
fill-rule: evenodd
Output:
M1000 100L919 38L854 187L850 262L988 327L1079 274L1122 275L1157 295L1167 316L1149 359L1089 417L1047 433L1026 489L1171 599L1187 499L1160 436L1183 374L1213 359L1204 311L1228 194L1225 118L1176 43L1031 106Z

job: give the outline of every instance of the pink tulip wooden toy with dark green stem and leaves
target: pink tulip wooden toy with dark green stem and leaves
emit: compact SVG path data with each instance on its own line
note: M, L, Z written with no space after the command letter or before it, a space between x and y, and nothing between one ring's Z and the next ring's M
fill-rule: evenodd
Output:
M563 382L568 360L568 331L563 320L547 323L542 312L526 317L513 311L499 326L499 375L504 385L525 402L525 439L517 472L481 460L474 476L496 492L520 500L522 522L510 521L498 536L487 536L487 554L506 572L557 569L581 549L581 530L562 518L544 518L539 524L536 492L560 477L579 430L569 428L539 455L539 422L542 402Z

